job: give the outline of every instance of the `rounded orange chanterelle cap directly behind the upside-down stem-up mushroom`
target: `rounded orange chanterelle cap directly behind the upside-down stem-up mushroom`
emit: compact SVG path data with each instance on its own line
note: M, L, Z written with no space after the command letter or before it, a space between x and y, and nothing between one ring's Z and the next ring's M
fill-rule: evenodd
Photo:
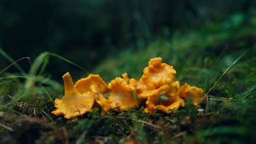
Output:
M91 86L97 88L97 92L104 94L108 93L109 89L107 84L101 79L100 75L90 74L88 77L75 82L75 89L80 93L91 92Z

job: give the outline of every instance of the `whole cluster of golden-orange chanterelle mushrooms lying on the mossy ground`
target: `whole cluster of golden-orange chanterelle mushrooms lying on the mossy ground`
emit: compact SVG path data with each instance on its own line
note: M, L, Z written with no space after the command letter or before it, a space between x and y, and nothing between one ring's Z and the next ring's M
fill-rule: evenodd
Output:
M54 115L64 115L70 119L83 116L94 106L106 111L127 111L139 107L141 101L146 101L144 112L152 113L160 110L171 113L173 110L185 106L183 99L191 98L195 105L199 104L204 95L201 88L191 87L188 83L183 86L174 81L176 70L172 66L162 63L162 58L152 58L148 67L144 68L143 76L139 81L130 79L127 73L116 77L108 85L100 75L90 74L73 84L71 75L62 76L65 86L65 95L55 99ZM110 95L105 98L104 95ZM143 100L144 99L144 100Z

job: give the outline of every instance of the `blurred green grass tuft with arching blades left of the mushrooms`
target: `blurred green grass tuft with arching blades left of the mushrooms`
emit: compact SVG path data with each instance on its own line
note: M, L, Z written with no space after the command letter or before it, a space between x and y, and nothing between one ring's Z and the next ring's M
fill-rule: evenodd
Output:
M0 53L2 53L2 55L9 59L9 61L13 61L13 59L11 59L7 53L5 53L2 49L0 49ZM11 76L7 76L7 77L0 77L0 80L1 79L16 79L16 78L23 78L23 79L26 79L26 82L25 82L25 85L24 87L20 87L17 91L17 93L14 95L15 99L14 100L11 100L10 103L8 104L5 104L5 105L1 105L0 107L4 107L4 106L7 106L7 105L10 105L10 104L14 104L16 101L20 100L21 98L24 99L27 103L30 103L36 96L36 94L34 93L34 84L35 83L38 83L38 86L42 87L43 91L46 93L46 95L48 95L48 97L50 98L50 100L53 101L53 98L51 98L50 94L46 91L46 89L42 86L42 83L46 82L45 80L45 77L42 77L40 76L46 65L48 64L49 62L49 56L53 56L53 57L57 57L57 58L60 58L62 59L63 61L65 62L68 62L68 63L71 63L77 67L79 67L80 69L83 69L82 67L80 67L78 64L75 64L71 61L69 61L68 59L62 57L62 56L59 56L59 55L56 55L55 53L51 53L51 52L43 52L43 53L40 53L40 55L38 57L36 57L36 59L34 60L34 62L31 64L31 61L30 61L30 58L29 57L24 57L24 58L21 58L21 59L25 59L27 58L29 61L30 61L30 64L31 64L31 68L30 68L30 71L28 74L26 74L20 67L18 67L18 69L20 70L20 73L21 75L11 75ZM21 59L18 59L18 61L20 61ZM16 63L18 62L13 62L13 64L11 65L16 65ZM8 69L9 67L11 67L11 65L9 65L7 68L5 68L4 70ZM41 66L42 65L42 66ZM19 66L19 65L18 65ZM16 66L17 67L17 66ZM40 69L39 71L39 74L38 73L38 70ZM1 73L4 71L2 70ZM88 71L86 71L85 69L83 69L88 75ZM0 73L0 74L1 74ZM40 82L38 82L38 80ZM49 83L48 83L49 84ZM51 85L51 84L50 84ZM53 86L53 85L52 85Z

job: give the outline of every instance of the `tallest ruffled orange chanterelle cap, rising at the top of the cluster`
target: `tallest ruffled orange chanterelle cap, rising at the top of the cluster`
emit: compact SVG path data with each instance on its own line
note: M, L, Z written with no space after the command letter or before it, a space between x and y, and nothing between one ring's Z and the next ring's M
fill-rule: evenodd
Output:
M173 66L162 63L162 58L150 59L148 67L144 68L143 76L138 81L138 98L148 98L145 92L171 85L175 75Z

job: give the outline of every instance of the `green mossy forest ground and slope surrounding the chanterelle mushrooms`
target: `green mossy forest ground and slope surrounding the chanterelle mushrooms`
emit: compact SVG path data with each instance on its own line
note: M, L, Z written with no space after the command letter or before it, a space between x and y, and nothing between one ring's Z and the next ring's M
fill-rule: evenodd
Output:
M138 42L131 49L111 55L92 71L106 82L125 72L139 79L150 58L162 57L177 70L176 80L209 92L229 65L250 49L200 106L188 100L174 113L155 111L152 115L144 113L144 104L135 110L109 111L106 115L95 108L83 117L65 119L51 114L55 109L53 100L63 95L57 86L45 85L45 93L36 83L35 87L29 85L32 93L25 93L26 87L22 87L28 81L1 79L0 143L253 143L255 17L235 24L231 20L197 31L176 32L171 39L143 46ZM1 75L7 77L8 73Z

